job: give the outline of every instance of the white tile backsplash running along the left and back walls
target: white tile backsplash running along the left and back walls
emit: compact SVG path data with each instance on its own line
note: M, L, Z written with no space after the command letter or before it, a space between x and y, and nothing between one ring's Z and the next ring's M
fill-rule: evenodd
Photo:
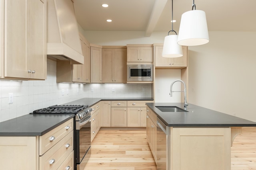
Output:
M0 80L0 122L80 98L151 98L151 89L151 84L56 83L56 61L48 59L46 80Z

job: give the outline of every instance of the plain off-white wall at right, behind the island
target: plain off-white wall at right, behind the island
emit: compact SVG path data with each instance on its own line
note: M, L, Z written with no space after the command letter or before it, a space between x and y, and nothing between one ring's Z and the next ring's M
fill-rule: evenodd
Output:
M208 44L188 48L188 102L256 121L256 32L209 37Z

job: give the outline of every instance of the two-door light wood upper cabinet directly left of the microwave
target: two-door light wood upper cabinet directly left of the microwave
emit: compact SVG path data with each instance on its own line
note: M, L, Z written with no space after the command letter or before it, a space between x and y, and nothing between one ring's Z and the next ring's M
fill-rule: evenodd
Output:
M102 47L102 82L126 83L127 82L127 49Z

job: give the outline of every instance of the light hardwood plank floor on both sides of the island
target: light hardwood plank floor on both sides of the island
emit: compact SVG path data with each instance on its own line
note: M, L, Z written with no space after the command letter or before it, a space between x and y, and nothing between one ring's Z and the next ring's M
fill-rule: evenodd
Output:
M84 170L156 170L146 129L101 128ZM244 127L234 140L231 170L256 170L256 127Z

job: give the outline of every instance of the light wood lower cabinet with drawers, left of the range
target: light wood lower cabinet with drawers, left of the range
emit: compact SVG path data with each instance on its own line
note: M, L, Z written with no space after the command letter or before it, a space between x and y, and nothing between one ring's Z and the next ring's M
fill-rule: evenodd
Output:
M0 165L3 170L73 170L73 119L42 136L0 137Z

